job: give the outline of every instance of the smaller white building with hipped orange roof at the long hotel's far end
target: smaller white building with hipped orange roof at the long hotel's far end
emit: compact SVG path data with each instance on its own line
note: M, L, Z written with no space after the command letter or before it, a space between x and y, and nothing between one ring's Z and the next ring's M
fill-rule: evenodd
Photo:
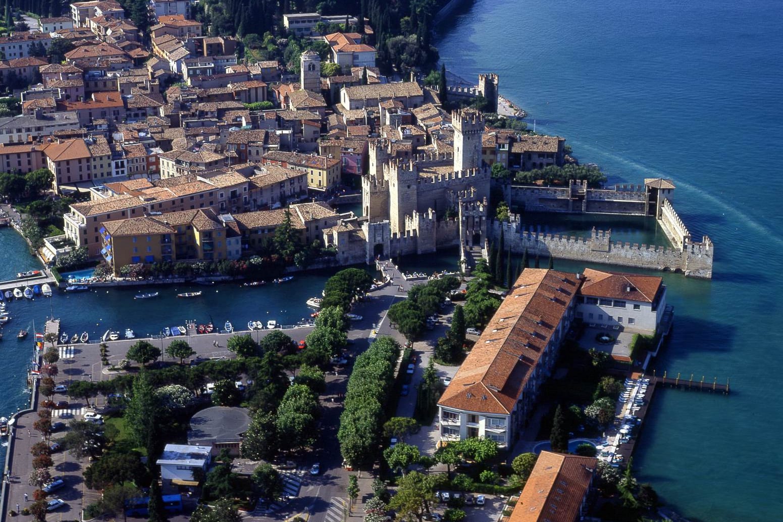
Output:
M666 285L655 275L586 268L576 297L576 317L587 324L655 333L666 310Z

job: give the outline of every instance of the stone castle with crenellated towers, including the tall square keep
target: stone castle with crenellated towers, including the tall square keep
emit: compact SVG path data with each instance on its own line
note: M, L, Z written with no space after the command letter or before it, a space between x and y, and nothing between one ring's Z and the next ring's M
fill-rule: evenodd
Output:
M484 117L455 110L452 127L453 153L390 159L383 139L370 143L362 178L367 261L485 242L491 176L481 160Z

